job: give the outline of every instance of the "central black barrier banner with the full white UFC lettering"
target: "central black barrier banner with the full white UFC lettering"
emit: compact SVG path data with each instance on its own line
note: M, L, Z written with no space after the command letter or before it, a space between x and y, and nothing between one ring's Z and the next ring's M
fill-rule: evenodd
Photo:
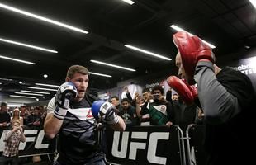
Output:
M136 126L124 132L106 130L107 162L118 164L181 164L175 126Z

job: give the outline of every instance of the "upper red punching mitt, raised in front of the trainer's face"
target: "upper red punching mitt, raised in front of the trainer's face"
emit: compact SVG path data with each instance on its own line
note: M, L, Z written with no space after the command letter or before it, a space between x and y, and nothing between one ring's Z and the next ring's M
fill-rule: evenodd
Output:
M186 31L178 31L173 35L173 42L181 54L183 68L190 85L195 84L194 73L198 61L214 63L210 46L206 45L197 35L189 35Z

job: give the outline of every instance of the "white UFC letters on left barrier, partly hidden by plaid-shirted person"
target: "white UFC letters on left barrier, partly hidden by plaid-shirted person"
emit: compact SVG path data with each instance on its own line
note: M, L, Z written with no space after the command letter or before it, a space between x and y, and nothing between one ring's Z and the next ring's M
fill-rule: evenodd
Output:
M4 142L3 140L5 139L5 133L6 133L7 130L4 130L2 132L2 136L1 136L1 139L0 139L0 152L3 151L3 147L4 147ZM33 137L26 137L26 142L25 143L21 143L19 145L19 150L24 150L26 144L28 142L35 142L36 141L36 144L35 144L35 148L36 149L43 149L43 148L48 148L49 147L49 144L42 144L43 142L43 139L44 139L44 135L45 135L45 132L44 130L40 130L40 132L38 133L38 135L36 136L38 130L24 130L24 135L33 135ZM37 139L36 139L37 137Z

